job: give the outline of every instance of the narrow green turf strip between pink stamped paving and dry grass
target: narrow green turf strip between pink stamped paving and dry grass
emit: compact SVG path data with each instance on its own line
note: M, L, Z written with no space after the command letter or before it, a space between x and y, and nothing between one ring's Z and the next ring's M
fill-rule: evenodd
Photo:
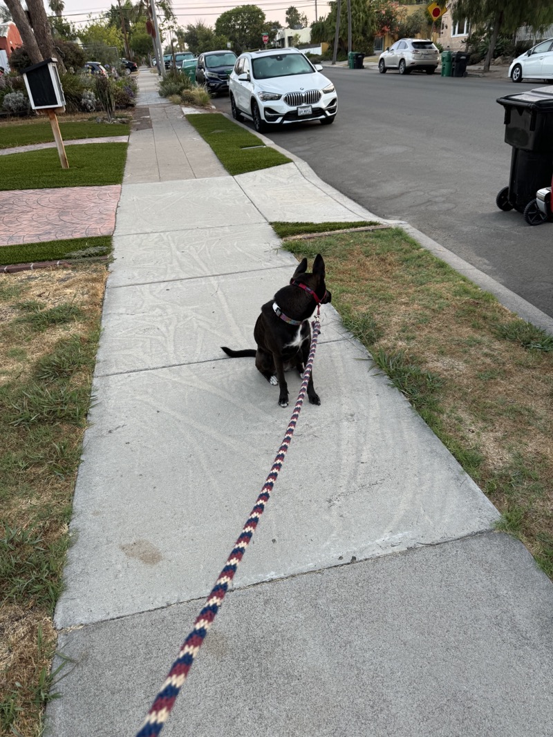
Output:
M59 261L79 256L107 256L111 253L111 235L95 238L69 238L0 247L0 265Z

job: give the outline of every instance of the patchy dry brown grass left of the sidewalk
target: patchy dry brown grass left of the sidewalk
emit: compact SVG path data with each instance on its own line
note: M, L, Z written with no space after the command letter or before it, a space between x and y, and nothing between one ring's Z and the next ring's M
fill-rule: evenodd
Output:
M94 264L0 277L1 735L42 730L106 276Z

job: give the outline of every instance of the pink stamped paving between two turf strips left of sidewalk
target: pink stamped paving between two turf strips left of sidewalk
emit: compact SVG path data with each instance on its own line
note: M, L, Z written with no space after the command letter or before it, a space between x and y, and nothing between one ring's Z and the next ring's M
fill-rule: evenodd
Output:
M111 235L121 185L0 192L0 246Z

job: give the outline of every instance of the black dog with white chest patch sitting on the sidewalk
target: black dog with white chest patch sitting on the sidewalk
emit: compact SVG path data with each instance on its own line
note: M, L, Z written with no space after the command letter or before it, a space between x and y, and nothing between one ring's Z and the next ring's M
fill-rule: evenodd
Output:
M309 357L311 326L309 318L318 304L327 304L332 296L324 285L324 260L318 254L313 273L307 273L307 259L302 259L289 286L282 287L274 299L261 308L254 328L257 351L232 351L221 346L231 358L255 356L255 366L271 384L280 385L279 405L288 406L288 386L284 372L297 368L303 374ZM276 375L275 375L276 374ZM321 400L313 388L313 373L307 383L307 397L312 405Z

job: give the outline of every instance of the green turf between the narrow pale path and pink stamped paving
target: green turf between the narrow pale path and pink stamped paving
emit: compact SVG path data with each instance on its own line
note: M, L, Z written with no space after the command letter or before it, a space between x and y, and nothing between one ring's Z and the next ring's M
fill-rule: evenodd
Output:
M61 168L55 148L1 156L0 191L121 184L127 145L91 143L68 147L69 169Z

